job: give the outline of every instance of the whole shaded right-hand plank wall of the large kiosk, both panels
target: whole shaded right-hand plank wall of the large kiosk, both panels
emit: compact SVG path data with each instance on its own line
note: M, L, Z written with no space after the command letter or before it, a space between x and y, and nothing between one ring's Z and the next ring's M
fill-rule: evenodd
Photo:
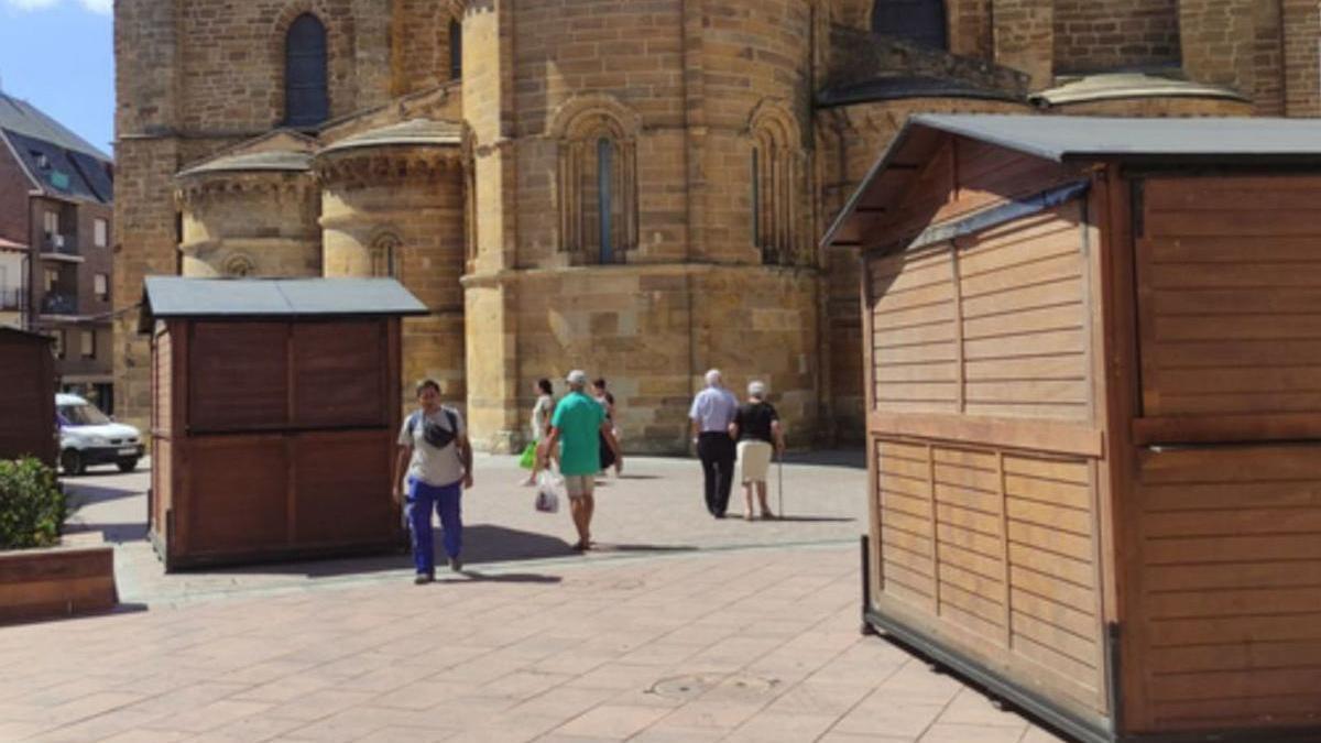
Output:
M1321 719L1318 189L1144 184L1133 430L1149 446L1125 620L1148 730Z

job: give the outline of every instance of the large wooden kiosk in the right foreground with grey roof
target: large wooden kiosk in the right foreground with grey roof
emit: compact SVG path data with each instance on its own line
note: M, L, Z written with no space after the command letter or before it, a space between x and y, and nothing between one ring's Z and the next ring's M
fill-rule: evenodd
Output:
M917 116L865 617L1082 740L1321 740L1321 123Z

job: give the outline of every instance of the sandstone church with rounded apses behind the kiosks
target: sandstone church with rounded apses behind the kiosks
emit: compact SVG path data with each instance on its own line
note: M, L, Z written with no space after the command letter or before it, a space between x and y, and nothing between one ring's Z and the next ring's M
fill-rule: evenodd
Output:
M145 275L396 276L478 447L571 368L629 451L686 448L708 368L860 439L818 239L909 114L1314 116L1318 37L1314 0L118 0L122 411Z

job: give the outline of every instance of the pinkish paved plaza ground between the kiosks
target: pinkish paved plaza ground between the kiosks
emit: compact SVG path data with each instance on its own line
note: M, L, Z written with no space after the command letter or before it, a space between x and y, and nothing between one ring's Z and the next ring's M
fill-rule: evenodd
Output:
M0 629L0 740L1055 740L859 633L859 455L786 465L765 522L626 464L577 555L480 457L465 574L420 587L403 554L164 575L145 473L73 480L127 608Z

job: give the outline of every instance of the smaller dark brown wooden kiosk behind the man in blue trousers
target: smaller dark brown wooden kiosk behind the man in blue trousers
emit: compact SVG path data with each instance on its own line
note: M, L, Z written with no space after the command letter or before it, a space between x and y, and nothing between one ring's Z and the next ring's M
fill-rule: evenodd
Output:
M400 426L392 279L147 279L151 538L166 570L384 550Z

